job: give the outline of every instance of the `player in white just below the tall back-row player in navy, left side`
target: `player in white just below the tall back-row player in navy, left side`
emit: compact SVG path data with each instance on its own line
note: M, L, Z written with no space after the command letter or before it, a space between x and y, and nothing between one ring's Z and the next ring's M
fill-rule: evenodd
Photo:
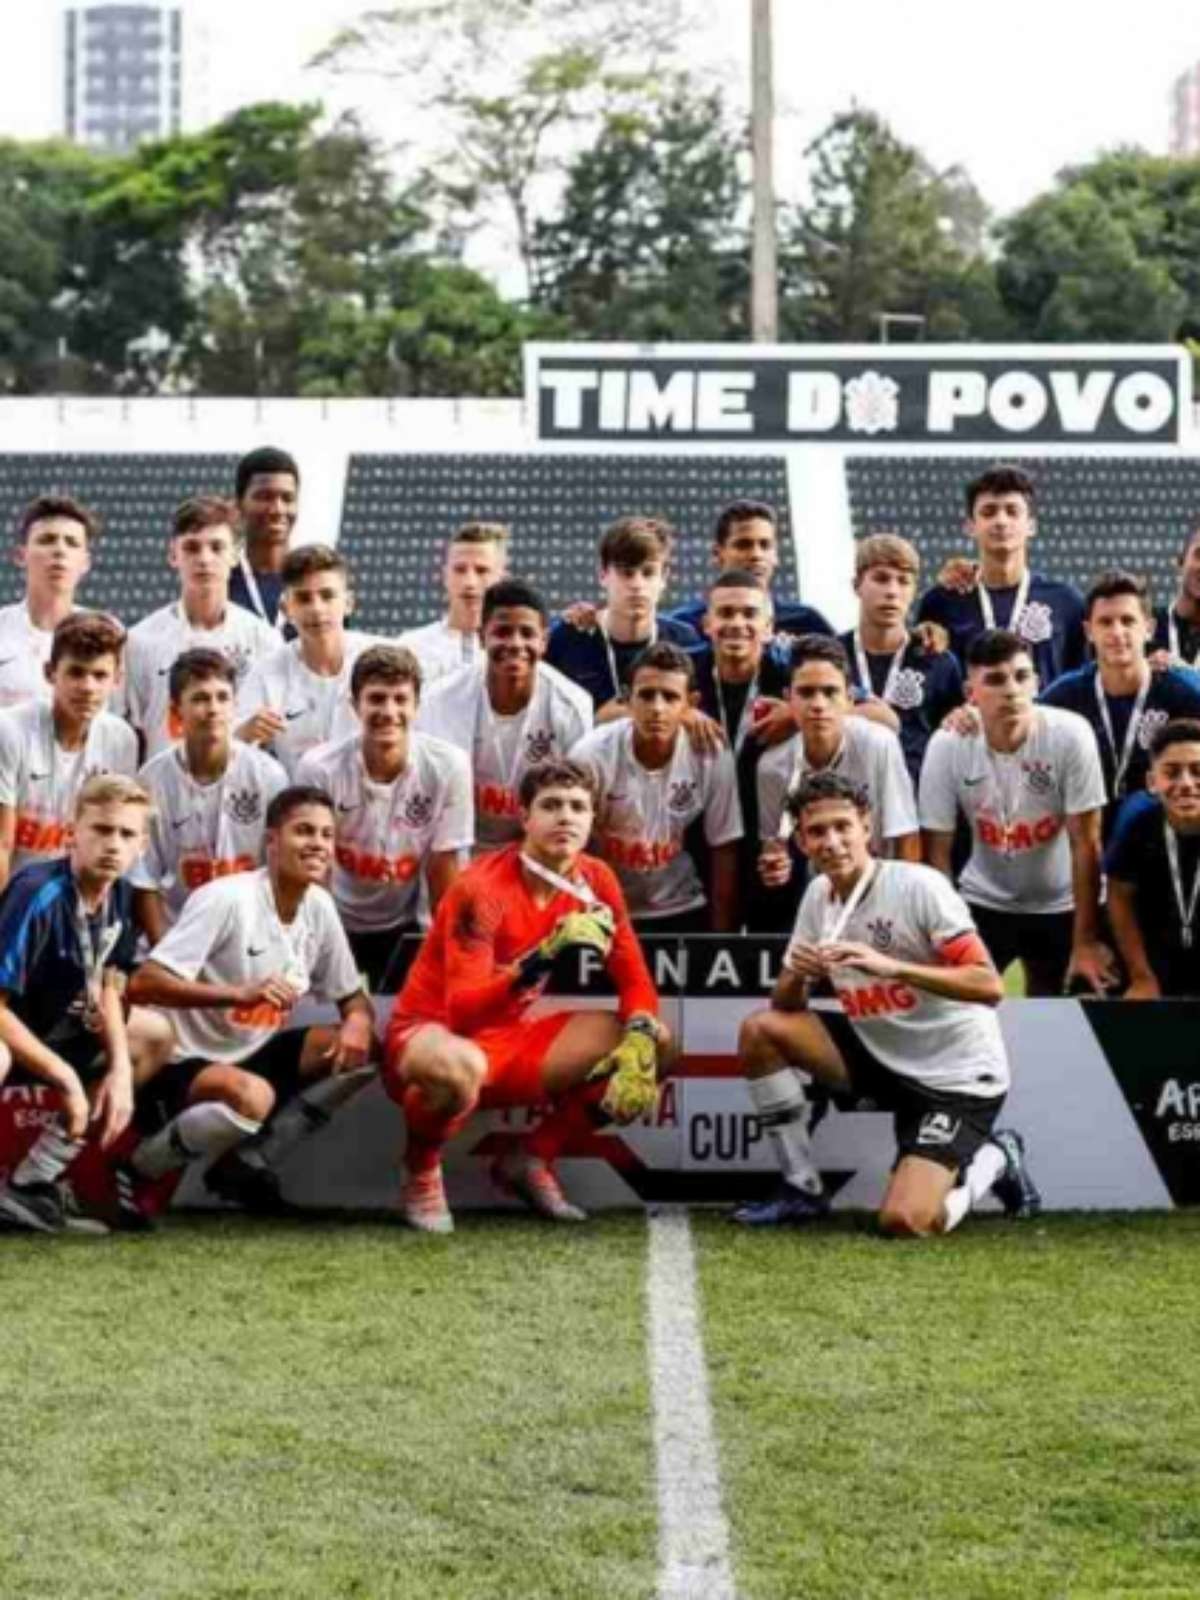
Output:
M306 750L357 733L350 672L381 640L346 627L354 611L350 570L328 544L291 550L282 578L283 610L299 637L250 669L238 690L237 736L267 746L294 776Z

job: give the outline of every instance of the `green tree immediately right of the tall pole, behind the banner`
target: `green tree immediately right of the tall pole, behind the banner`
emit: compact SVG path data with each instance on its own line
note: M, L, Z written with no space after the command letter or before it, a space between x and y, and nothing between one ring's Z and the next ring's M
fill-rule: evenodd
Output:
M878 338L878 318L925 320L931 339L1005 323L981 253L986 208L960 168L938 174L874 112L835 117L808 150L811 198L782 250L782 322L800 339Z

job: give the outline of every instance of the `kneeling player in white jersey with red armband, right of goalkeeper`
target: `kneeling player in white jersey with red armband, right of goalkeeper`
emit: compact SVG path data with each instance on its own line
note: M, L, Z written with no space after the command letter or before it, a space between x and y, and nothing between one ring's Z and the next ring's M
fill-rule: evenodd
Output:
M949 1234L989 1190L1014 1216L1040 1197L1016 1133L997 1131L1010 1083L995 1006L1003 986L946 880L907 861L877 861L866 790L813 773L790 805L813 882L765 1011L738 1050L750 1099L782 1166L779 1192L738 1222L808 1222L829 1210L808 1142L808 1104L792 1069L893 1114L896 1165L880 1206L885 1234ZM848 1027L810 1010L830 982Z

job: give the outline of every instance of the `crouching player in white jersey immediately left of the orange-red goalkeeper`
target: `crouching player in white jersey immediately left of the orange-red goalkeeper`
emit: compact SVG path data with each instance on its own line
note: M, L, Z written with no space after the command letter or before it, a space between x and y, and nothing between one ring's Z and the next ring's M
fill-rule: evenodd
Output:
M363 1086L374 1013L322 886L333 837L323 790L283 789L267 810L267 864L197 890L130 979L133 1002L162 1006L178 1040L149 1091L166 1125L130 1158L142 1179L210 1160L214 1194L288 1211L275 1163ZM339 1027L286 1027L309 994L336 1003Z

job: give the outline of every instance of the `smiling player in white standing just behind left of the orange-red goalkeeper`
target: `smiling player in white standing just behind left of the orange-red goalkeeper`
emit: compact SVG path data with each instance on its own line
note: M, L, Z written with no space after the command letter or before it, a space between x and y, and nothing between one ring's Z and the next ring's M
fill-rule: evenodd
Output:
M392 994L422 882L437 909L475 842L470 763L445 739L414 731L421 667L411 650L365 650L350 693L360 731L309 750L298 779L334 803L333 898L371 992Z

